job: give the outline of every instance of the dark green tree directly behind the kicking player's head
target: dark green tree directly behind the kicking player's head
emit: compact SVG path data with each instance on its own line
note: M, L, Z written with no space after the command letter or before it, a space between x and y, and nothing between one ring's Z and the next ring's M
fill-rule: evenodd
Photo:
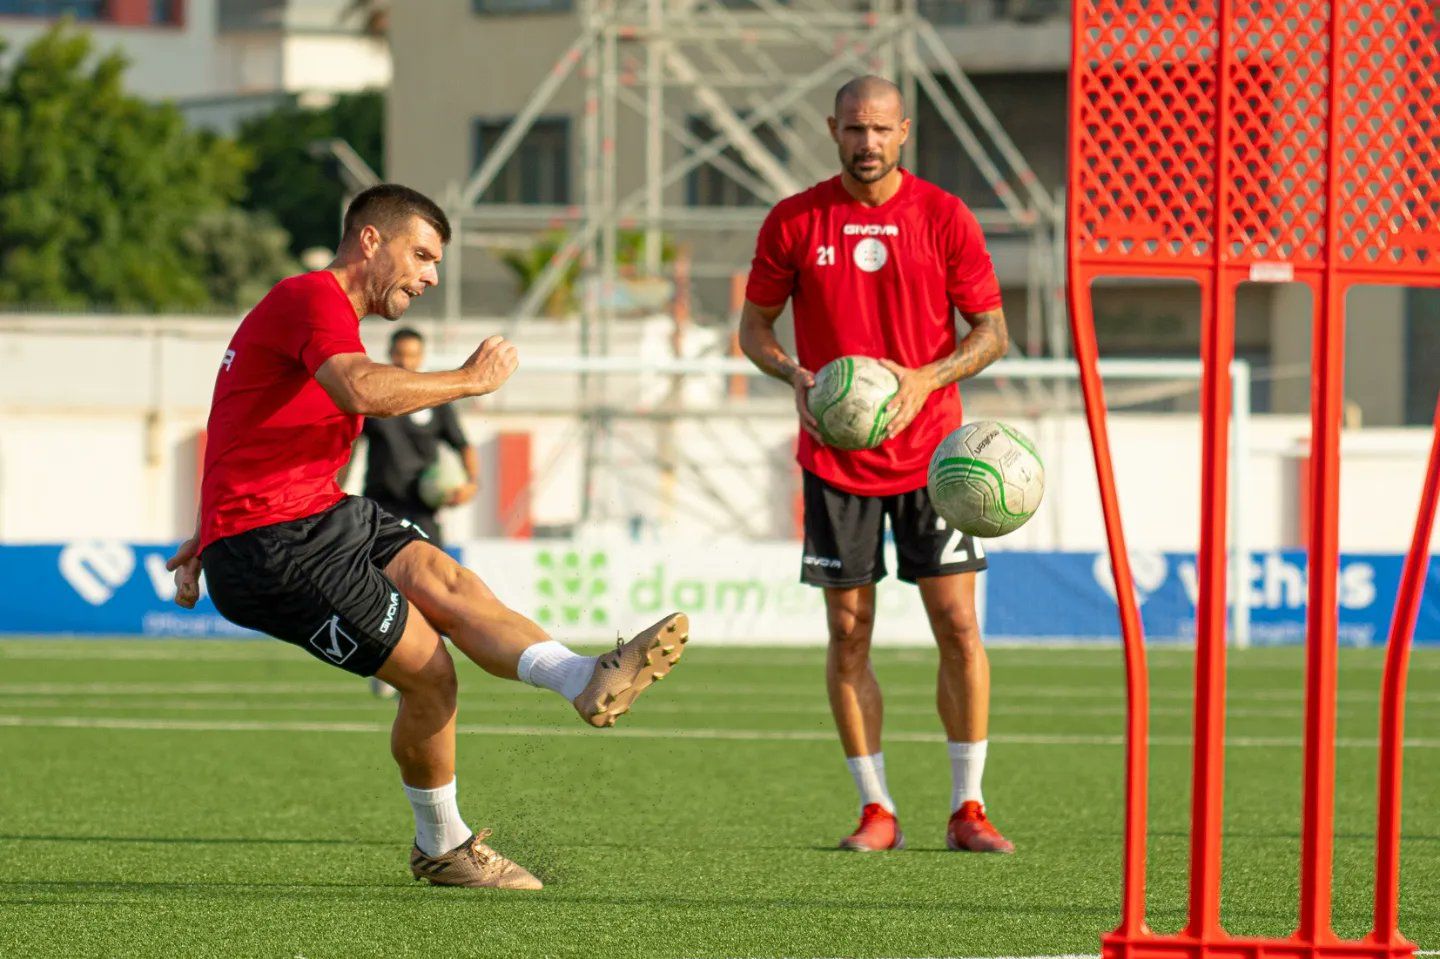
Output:
M350 94L325 109L285 107L240 125L239 140L255 156L246 177L245 206L268 210L289 230L291 252L336 248L344 184L328 158L310 145L338 137L376 171L384 157L384 96Z

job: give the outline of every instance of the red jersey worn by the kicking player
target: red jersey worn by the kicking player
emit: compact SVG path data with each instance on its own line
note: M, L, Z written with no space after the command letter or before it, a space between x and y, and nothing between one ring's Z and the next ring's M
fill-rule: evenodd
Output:
M360 318L328 271L282 279L240 321L210 400L200 549L328 510L344 492L361 416L315 382L333 356L364 353Z

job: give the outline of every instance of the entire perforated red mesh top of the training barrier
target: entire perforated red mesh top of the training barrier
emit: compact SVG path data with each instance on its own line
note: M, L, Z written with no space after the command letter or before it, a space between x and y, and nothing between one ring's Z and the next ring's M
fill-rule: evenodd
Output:
M1323 266L1331 0L1233 3L1225 23L1218 0L1077 6L1074 255L1143 274L1214 264L1223 242L1227 266ZM1433 276L1440 3L1338 9L1335 265Z

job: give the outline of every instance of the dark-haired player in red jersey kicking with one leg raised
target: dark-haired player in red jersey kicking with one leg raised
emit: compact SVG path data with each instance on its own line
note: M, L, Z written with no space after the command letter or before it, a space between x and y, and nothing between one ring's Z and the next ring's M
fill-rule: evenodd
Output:
M199 599L203 567L230 622L400 691L390 753L415 809L415 878L540 888L455 803L455 664L441 635L488 672L553 690L585 721L611 726L680 659L688 623L672 613L613 652L576 655L409 520L340 491L361 418L494 393L516 370L503 337L444 373L364 353L360 318L397 320L436 285L449 236L425 196L372 187L346 210L330 268L276 284L245 317L215 383L199 528L168 569L181 606Z

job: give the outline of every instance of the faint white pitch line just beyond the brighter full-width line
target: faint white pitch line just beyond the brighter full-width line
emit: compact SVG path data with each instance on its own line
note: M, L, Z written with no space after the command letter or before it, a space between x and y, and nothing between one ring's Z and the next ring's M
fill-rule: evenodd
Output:
M180 694L200 694L200 695L356 695L361 693L364 685L360 680L353 683L0 683L0 695L180 695ZM762 698L773 698L783 695L785 693L802 693L812 694L815 690L821 688L818 683L804 683L804 684L714 684L703 688L690 688L683 693L685 697L703 698L707 695L720 697L736 697L736 695L755 695ZM927 700L935 695L935 687L932 684L906 684L906 683L890 683L883 684L884 691L888 695L904 697L904 695L919 695ZM1051 685L1014 685L1014 684L996 684L996 695L999 697L1030 697L1038 701L1047 700L1106 700L1110 703L1123 703L1125 690L1116 685L1115 690L1096 690L1096 688L1081 688L1081 690L1067 690L1063 687ZM495 695L511 695L521 694L530 695L530 687L517 683L495 683L487 684L484 687L485 697ZM1192 698L1189 690L1151 690L1152 701L1178 701L1188 703ZM1378 690L1341 690L1341 703L1375 703L1380 694ZM1227 691L1227 701L1230 703L1295 703L1300 704L1305 701L1303 690L1276 690L1276 688L1261 688L1261 690L1236 690ZM1440 703L1440 693L1417 693L1407 691L1405 701L1408 704L1424 704L1424 703ZM1189 707L1184 707L1188 711ZM1153 710L1153 707L1152 707Z

